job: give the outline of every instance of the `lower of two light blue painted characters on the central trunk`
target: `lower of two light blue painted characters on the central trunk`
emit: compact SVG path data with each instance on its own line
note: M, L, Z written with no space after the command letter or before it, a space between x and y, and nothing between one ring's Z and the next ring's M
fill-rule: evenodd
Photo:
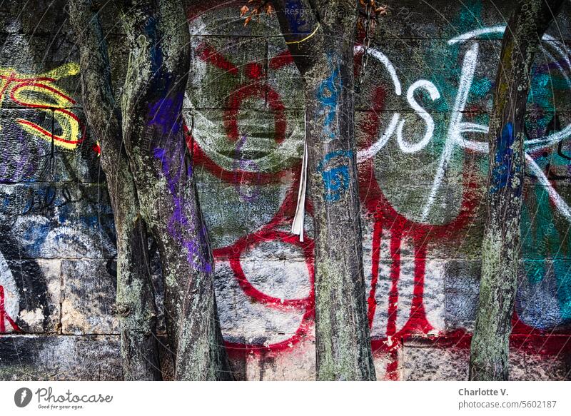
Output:
M349 188L349 163L353 156L352 151L334 151L325 155L318 165L325 188L323 198L328 202L339 201L343 193ZM333 168L325 169L332 160L337 161ZM342 164L338 164L342 163Z

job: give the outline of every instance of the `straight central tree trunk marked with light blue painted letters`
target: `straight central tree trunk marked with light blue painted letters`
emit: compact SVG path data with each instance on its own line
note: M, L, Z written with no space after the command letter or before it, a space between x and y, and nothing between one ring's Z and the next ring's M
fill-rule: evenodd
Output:
M357 2L274 1L305 83L315 219L318 380L375 380L355 161L353 44Z

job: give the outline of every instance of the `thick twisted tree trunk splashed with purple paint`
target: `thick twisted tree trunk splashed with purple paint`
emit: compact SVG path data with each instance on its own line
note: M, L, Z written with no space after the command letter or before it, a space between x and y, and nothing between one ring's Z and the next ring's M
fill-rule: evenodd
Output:
M183 133L190 34L181 2L124 1L131 41L123 141L141 213L158 243L177 380L229 380L213 259Z

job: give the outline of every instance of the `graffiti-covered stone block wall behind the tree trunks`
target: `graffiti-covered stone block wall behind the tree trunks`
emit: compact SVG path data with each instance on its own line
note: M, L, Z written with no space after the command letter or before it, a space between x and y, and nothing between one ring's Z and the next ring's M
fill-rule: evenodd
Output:
M244 2L202 1L188 9L188 149L236 377L312 379L310 198L303 242L289 232L303 153L303 85L276 20L263 16L245 27ZM355 130L380 380L467 377L487 121L513 3L390 0L367 51ZM64 6L59 0L0 6L0 379L121 379L113 215L99 146L82 111ZM128 46L116 11L107 7L101 15L119 95ZM356 44L356 70L361 56ZM571 371L568 2L543 38L530 91L510 376L565 380ZM154 283L160 298L158 276Z

